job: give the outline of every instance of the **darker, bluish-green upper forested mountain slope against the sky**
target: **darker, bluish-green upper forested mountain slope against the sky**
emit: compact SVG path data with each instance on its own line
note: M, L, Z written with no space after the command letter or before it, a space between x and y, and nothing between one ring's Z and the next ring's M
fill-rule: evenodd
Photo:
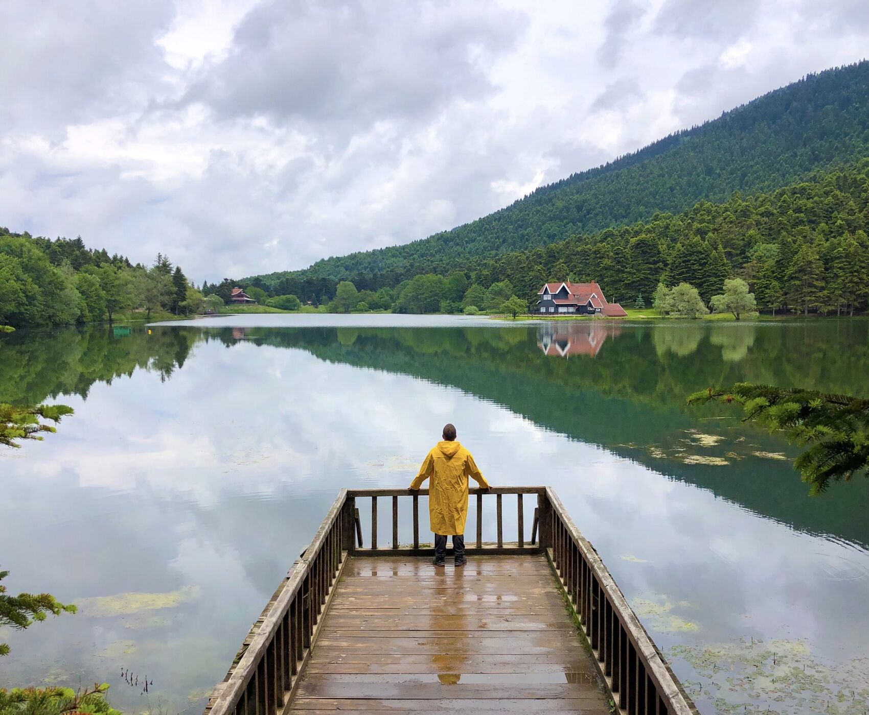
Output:
M467 270L471 257L547 246L646 220L655 212L679 213L700 200L724 201L734 191L769 192L816 168L866 155L869 62L859 62L807 75L451 231L242 282L278 292L283 278L351 279L376 290L420 273Z

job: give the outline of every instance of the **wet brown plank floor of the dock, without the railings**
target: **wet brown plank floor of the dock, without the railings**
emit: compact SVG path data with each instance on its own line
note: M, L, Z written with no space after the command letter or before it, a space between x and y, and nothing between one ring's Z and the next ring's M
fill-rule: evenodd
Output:
M291 710L609 712L542 555L351 559Z

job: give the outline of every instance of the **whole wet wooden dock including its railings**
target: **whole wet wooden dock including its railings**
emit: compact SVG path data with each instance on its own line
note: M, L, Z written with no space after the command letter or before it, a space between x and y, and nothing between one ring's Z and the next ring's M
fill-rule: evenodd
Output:
M471 491L477 534L475 543L466 535L468 564L448 559L437 568L419 537L425 490L342 490L205 715L696 712L551 489ZM493 543L482 541L488 494ZM517 509L511 542L503 539L505 495ZM534 495L527 539L523 504ZM376 541L381 498L392 501L389 548ZM366 499L368 548L356 506ZM406 545L400 499L414 512Z

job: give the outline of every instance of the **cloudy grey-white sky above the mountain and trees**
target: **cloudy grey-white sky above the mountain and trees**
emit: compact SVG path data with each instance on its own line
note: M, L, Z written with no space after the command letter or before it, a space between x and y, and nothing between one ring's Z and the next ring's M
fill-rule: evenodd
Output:
M869 48L864 0L3 0L0 226L189 276L502 207Z

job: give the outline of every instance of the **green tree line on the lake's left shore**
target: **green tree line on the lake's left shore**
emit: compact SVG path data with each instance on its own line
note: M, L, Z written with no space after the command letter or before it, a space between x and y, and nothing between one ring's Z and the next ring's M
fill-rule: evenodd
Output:
M74 325L118 313L198 312L204 296L181 266L158 253L152 266L93 250L76 239L46 239L0 227L0 325Z

